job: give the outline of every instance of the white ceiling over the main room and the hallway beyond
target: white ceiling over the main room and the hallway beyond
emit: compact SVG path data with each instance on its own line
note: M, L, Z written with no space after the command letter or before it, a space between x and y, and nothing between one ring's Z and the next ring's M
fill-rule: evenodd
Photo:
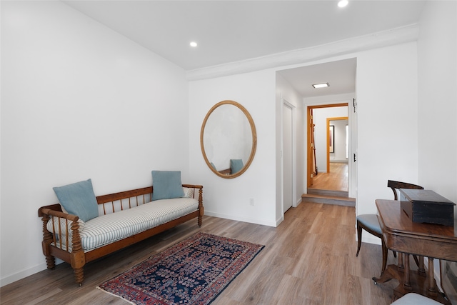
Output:
M63 1L186 71L417 24L424 1ZM199 46L191 48L196 41ZM303 96L348 93L355 60L281 74ZM311 77L313 76L313 77ZM331 83L319 93L311 83ZM325 92L325 94L323 93Z

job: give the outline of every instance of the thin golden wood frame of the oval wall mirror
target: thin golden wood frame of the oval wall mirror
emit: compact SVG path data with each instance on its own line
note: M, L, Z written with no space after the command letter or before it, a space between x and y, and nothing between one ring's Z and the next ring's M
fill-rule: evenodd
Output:
M251 147L251 154L249 156L249 159L248 161L246 161L246 164L243 164L243 168L240 170L240 171L237 171L235 174L226 174L221 171L217 171L216 169L214 169L213 166L211 166L211 162L208 160L207 156L206 156L206 152L205 152L205 147L204 147L204 131L205 131L205 126L206 126L206 121L208 121L209 119L209 116L211 116L211 114L219 107L219 106L222 106L222 105L233 105L233 106L236 106L238 107L238 109L240 109L243 114L246 116L246 119L248 119L248 122L249 122L249 125L251 126L251 132L252 132L252 147ZM233 179L233 178L236 178L238 176L241 176L241 174L243 174L246 169L248 169L248 167L251 165L252 163L252 160L254 159L254 155L256 154L256 148L257 148L257 132L256 132L256 125L254 125L254 121L251 117L251 114L249 114L249 112L246 110L246 108L244 108L241 104L237 103L236 101L220 101L219 103L217 103L216 105L214 105L208 112L208 114L206 114L205 116L205 119L203 121L203 124L201 124L201 131L200 131L200 146L201 146L201 153L203 154L203 157L205 159L205 162L206 162L206 165L208 165L209 169L211 169L211 171L214 172L214 174L216 174L217 176L220 176L221 178L225 178L225 179Z

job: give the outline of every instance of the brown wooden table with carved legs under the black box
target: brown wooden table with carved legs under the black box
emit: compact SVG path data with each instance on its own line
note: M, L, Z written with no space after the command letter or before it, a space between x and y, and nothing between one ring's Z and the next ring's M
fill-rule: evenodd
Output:
M397 279L400 284L393 289L393 300L416 292L440 303L450 304L436 287L433 259L457 261L457 221L454 226L413 222L401 209L400 201L377 199L376 207L387 248L401 255L398 256L397 265L389 265L380 277L373 277L375 284ZM423 268L423 259L418 260L417 271L410 270L410 254L428 257L428 274Z

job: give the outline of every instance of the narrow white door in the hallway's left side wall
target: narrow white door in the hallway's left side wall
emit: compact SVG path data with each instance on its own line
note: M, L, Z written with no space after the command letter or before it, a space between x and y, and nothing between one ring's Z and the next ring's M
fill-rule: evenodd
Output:
M283 213L293 204L293 109L283 101Z

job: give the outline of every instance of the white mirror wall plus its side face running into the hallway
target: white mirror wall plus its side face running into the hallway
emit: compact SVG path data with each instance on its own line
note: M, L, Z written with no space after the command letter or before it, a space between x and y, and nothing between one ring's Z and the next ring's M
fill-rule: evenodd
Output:
M242 104L253 117L257 129L256 156L249 169L236 179L216 176L206 166L199 144L190 144L192 175L204 185L205 214L268 226L276 226L282 221L281 98L296 107L295 200L300 202L304 164L303 103L291 85L273 70L189 83L190 137L199 136L206 113L214 104L226 99ZM251 198L255 201L254 206L249 205Z

